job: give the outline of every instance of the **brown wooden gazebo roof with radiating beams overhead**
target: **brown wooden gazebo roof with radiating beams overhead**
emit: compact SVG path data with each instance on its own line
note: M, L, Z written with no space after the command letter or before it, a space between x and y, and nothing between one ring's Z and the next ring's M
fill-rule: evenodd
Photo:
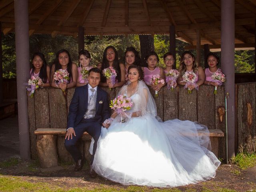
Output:
M28 0L29 33L169 34L196 44L220 44L220 0ZM254 44L256 0L235 0L235 43ZM4 34L14 31L14 0L0 1Z

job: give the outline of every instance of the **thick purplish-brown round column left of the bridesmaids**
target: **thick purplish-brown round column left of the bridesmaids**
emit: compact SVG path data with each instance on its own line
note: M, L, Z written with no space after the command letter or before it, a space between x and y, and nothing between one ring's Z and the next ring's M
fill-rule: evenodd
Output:
M20 156L30 159L28 100L24 86L29 78L28 1L14 1L14 14Z

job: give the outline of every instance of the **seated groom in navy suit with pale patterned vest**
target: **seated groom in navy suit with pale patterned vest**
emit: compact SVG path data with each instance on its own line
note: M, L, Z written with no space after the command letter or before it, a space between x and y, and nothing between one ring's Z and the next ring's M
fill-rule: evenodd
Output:
M90 176L95 178L96 172L92 169L92 162L97 148L104 120L110 118L110 107L107 93L98 87L100 70L89 70L88 84L77 87L69 106L68 125L65 136L65 147L76 162L74 171L81 170L84 156L76 148L76 142L86 131L94 138L93 154L90 159Z

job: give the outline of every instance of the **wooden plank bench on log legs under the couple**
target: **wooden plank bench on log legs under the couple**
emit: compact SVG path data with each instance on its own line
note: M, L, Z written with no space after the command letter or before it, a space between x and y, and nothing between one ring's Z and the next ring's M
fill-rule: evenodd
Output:
M218 138L224 137L224 133L219 129L209 129L212 152L218 157ZM36 134L36 149L38 160L42 168L58 166L60 161L73 161L72 157L64 146L64 136L66 129L40 128L34 131ZM84 154L86 160L90 160L90 142L91 136L84 132L80 151Z

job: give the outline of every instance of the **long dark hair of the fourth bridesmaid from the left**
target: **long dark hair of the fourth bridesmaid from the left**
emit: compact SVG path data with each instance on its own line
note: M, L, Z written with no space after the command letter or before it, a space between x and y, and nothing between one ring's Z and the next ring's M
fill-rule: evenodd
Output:
M114 59L114 62L113 62L112 66L116 70L116 74L117 74L116 79L118 80L118 82L120 82L121 81L121 69L120 69L120 66L119 66L118 52L117 52L116 48L114 48L114 46L112 46L112 45L107 46L104 50L101 70L103 71L105 68L109 67L109 62L107 60L107 50L110 49L110 48L112 48L115 52L115 59ZM106 82L106 78L104 76L101 76L101 82Z

